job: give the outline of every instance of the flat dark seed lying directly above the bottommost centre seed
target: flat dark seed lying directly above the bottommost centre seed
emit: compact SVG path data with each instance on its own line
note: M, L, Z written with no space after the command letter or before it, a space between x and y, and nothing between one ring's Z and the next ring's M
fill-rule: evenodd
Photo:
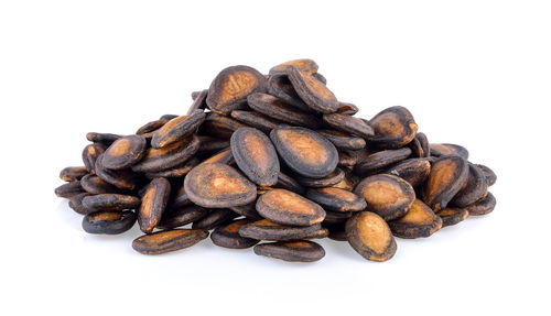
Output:
M312 236L321 229L322 226L320 224L298 227L283 226L268 219L262 219L244 225L239 229L239 235L257 240L296 240Z

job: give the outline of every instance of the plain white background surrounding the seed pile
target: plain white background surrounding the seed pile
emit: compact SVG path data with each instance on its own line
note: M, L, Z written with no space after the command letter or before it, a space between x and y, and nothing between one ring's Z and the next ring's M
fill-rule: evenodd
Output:
M549 315L549 1L185 2L0 2L2 315ZM226 66L299 57L359 116L406 106L467 146L498 174L495 211L385 263L323 240L292 264L209 240L141 255L137 227L88 236L54 196L86 132L132 133Z

